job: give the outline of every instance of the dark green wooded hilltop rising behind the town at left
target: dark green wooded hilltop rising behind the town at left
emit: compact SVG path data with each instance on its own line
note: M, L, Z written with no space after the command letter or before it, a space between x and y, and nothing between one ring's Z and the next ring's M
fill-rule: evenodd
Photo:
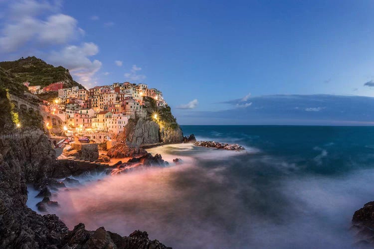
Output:
M7 73L11 73L19 82L30 82L30 86L45 87L53 82L64 81L65 87L78 86L84 88L71 77L69 70L62 66L54 67L35 56L21 58L16 61L0 62Z

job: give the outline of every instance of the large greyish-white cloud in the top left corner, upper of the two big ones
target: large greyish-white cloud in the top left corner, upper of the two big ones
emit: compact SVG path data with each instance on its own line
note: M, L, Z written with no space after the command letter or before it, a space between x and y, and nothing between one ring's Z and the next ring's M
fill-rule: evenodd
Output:
M24 45L30 47L29 43L39 46L64 44L82 35L83 29L69 15L56 13L47 15L45 19L38 18L41 12L55 12L58 9L57 4L34 0L10 5L9 14L0 31L0 52L14 52Z

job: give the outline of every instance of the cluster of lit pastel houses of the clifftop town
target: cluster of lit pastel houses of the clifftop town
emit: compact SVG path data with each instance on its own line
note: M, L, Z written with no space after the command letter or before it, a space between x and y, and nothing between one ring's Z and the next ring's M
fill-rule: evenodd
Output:
M78 86L65 88L64 82L52 83L44 88L29 86L29 82L23 85L35 95L58 92L53 101L43 102L46 110L62 123L52 119L45 124L46 128L58 132L63 124L65 135L81 134L99 141L103 141L105 136L123 132L130 118L145 117L147 100L154 100L159 108L167 106L162 92L146 84L114 83L89 90L79 89Z

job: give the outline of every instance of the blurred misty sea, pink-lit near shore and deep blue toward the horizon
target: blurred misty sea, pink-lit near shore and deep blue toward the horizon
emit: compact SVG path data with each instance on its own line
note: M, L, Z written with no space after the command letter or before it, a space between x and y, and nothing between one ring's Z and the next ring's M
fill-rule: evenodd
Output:
M149 149L172 162L116 175L82 176L52 200L69 229L147 231L167 246L353 248L354 212L374 200L374 128L183 126L197 139L243 152L172 144ZM90 179L90 181L87 181ZM100 179L100 181L98 181ZM29 207L39 200L29 192Z

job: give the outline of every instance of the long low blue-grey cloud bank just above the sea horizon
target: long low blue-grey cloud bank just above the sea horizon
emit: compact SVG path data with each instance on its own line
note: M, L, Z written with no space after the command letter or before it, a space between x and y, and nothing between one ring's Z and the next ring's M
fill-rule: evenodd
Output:
M223 102L229 104L226 110L190 112L177 118L181 124L374 125L373 97L267 95L250 100L247 108L237 99Z

